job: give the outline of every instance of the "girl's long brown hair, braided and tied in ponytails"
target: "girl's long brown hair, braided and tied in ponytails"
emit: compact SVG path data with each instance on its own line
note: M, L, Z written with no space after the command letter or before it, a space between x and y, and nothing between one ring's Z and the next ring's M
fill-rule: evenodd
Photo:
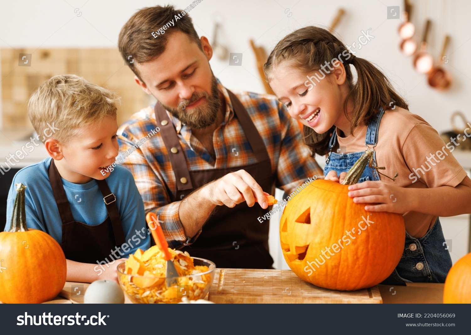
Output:
M339 59L339 55L343 57ZM285 36L268 56L263 70L267 81L270 82L273 69L284 61L288 61L294 68L312 73L320 70L325 62L332 64L334 58L341 60L345 65L350 92L345 99L344 113L348 117L347 102L351 100L353 102L351 132L360 124L367 125L374 120L380 107L385 111L389 110L391 102L398 107L408 109L404 99L394 91L390 81L380 70L366 59L351 55L339 39L319 27L304 27ZM357 71L355 83L347 64L355 66ZM335 126L324 134L318 134L314 129L303 126L304 143L311 148L313 157L316 153L325 155L329 151L329 139L333 131Z

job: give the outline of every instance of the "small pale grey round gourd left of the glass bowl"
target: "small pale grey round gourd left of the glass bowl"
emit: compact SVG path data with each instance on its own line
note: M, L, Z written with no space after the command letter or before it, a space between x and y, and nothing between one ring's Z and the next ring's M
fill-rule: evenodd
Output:
M124 303L124 294L113 280L96 280L90 284L83 297L84 303Z

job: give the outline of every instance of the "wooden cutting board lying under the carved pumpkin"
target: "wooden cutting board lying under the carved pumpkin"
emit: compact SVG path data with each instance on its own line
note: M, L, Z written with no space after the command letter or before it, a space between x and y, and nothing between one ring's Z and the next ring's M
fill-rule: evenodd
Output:
M333 291L291 270L216 269L208 300L214 303L382 303L377 286Z

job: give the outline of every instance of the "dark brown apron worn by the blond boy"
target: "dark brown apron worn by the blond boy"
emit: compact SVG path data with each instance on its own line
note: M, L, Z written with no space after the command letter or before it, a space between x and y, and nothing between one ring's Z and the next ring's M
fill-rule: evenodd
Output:
M110 255L113 256L111 251L116 246L121 246L125 239L118 208L115 204L116 197L111 193L106 181L97 180L97 183L103 195L108 216L105 221L95 226L73 219L70 204L54 160L51 160L49 166L49 181L62 220L61 247L65 258L81 263L96 263L107 258L108 262L111 262Z

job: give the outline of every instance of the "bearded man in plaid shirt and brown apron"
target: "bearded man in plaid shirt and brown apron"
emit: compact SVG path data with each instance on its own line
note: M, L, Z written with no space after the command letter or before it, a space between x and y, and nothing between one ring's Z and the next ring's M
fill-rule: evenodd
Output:
M322 175L283 104L224 88L208 39L172 6L139 10L119 49L158 100L118 130L146 212L158 215L171 247L218 267L271 268L269 223L257 219L269 211L263 192L290 193Z

